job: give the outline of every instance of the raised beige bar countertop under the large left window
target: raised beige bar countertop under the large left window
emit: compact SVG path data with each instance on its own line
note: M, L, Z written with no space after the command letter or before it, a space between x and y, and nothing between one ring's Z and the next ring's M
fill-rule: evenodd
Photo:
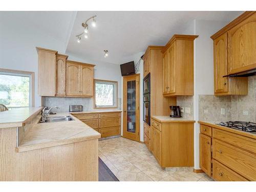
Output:
M32 119L42 107L18 108L0 112L0 129L7 127L24 126L27 121Z

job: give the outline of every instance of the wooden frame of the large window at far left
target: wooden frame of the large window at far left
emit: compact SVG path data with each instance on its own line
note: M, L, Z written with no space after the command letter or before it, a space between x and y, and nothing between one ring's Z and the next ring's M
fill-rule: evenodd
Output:
M29 77L29 88L30 88L29 106L10 107L11 109L27 108L27 107L35 106L35 73L34 72L0 68L0 74Z

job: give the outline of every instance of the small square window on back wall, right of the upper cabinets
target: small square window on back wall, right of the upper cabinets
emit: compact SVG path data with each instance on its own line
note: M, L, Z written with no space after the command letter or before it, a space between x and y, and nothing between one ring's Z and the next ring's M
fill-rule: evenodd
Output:
M117 108L117 81L94 79L94 108Z

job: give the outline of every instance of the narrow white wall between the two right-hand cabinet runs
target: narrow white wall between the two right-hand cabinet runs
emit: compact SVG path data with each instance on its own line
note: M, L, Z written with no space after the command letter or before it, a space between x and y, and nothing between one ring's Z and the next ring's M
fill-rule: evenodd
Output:
M193 31L199 35L194 41L194 160L199 169L199 95L214 94L214 56L211 35L219 31L228 22L212 20L194 20ZM191 26L190 26L191 28Z

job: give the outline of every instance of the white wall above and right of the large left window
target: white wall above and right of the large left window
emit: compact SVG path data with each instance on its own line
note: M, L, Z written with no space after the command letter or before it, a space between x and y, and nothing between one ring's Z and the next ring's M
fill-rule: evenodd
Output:
M35 72L35 106L41 106L41 97L37 95L38 63L35 47L63 53L66 42L46 35L40 28L25 24L23 14L0 12L0 68Z

